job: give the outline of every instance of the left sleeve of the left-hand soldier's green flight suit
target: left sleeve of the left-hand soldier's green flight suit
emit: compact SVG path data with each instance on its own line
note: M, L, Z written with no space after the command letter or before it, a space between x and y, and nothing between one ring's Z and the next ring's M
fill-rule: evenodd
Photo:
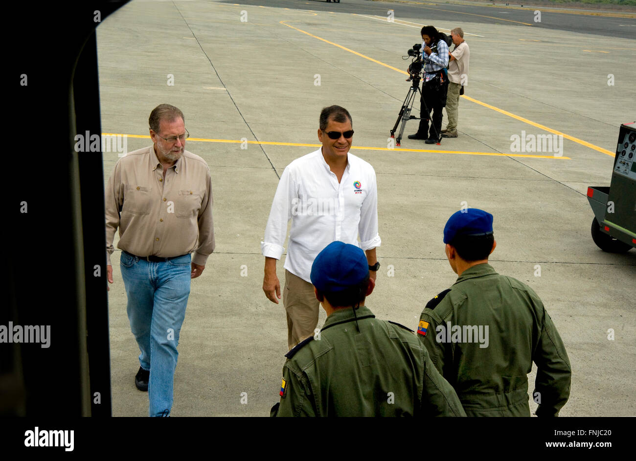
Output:
M285 395L280 397L277 411L272 408L270 416L318 416L307 376L289 360L282 374L286 383Z

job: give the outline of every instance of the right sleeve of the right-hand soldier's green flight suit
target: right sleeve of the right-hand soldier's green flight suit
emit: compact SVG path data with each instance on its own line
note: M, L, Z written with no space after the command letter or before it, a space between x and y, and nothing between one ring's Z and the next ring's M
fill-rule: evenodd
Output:
M536 415L558 416L559 410L570 396L572 369L563 341L545 309L541 334L532 361L537 365L537 378L532 393L539 404Z

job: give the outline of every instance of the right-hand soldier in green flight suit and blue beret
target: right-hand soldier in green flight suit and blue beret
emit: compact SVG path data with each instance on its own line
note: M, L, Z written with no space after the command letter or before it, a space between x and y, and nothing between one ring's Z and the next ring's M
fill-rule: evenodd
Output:
M558 416L570 395L570 361L550 315L529 286L488 264L492 214L460 210L444 228L457 282L420 316L418 337L468 416L530 416L528 373L537 365L537 416Z

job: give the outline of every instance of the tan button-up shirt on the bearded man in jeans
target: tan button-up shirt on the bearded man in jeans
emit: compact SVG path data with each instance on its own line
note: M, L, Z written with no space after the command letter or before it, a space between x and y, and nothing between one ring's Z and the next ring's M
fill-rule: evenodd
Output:
M212 178L200 156L184 151L165 173L153 146L116 163L106 186L106 260L117 247L137 256L171 258L194 251L205 265L214 251Z

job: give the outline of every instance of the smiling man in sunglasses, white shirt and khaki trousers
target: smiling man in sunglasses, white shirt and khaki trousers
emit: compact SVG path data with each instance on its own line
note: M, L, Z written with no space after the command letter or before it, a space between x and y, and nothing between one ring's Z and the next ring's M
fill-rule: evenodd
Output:
M284 251L291 219L283 292L289 349L312 336L318 324L319 302L310 273L314 258L324 247L336 240L361 247L373 280L380 265L375 254L375 247L380 246L375 171L349 153L354 134L351 115L344 107L329 106L322 109L319 123L322 147L287 165L276 189L265 242L261 242L263 291L278 304L276 261Z

